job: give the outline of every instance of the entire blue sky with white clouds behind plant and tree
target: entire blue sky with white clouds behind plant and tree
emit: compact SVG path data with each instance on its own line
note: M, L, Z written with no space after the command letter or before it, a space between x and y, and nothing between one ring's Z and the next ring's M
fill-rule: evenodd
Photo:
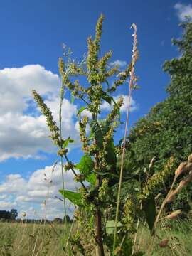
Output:
M166 97L169 76L162 71L164 60L179 57L171 38L181 36L178 23L192 14L190 1L2 1L0 10L0 207L33 217L43 213L42 201L50 194L49 204L55 211L48 218L62 215L55 200L60 188L60 169L53 173L53 186L48 188L44 173L51 174L56 159L55 149L45 137L45 120L31 99L31 90L53 94L47 104L57 115L58 58L62 43L70 46L74 58L81 59L87 50L87 36L94 35L100 13L105 15L101 54L112 50L112 60L121 68L132 54L132 23L138 27L139 60L136 73L140 90L134 92L130 124L149 112ZM127 86L117 95L127 95ZM125 97L126 100L126 97ZM78 140L75 113L79 103L64 101L64 132ZM104 107L107 112L107 107ZM125 110L125 107L124 107ZM122 118L124 118L122 110ZM38 114L37 114L38 113ZM119 129L117 140L122 137ZM80 159L80 147L71 149L73 161ZM51 174L52 175L52 174ZM66 174L67 187L74 189L73 176Z

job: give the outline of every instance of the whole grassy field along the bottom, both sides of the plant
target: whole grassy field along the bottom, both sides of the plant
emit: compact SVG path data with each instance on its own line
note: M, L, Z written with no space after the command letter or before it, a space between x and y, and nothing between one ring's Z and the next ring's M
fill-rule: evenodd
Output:
M192 225L191 221L179 221L173 223L162 223L154 240L153 256L183 256L191 255ZM33 224L33 223L0 223L0 255L1 256L61 256L73 255L64 252L63 245L66 245L70 224L65 228L61 224ZM74 225L73 234L77 230ZM160 247L162 239L169 239L166 247ZM135 252L147 252L151 237L149 229L139 225ZM92 250L90 240L87 240L87 247L90 246L90 255L96 255ZM80 254L77 254L80 255ZM106 254L107 255L107 254ZM147 255L147 254L146 254Z

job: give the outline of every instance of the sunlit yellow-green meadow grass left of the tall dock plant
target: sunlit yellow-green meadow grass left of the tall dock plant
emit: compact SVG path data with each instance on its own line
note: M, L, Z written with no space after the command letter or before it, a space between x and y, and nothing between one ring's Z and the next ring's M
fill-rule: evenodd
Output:
M65 234L69 229L70 224ZM1 256L67 255L63 252L66 240L60 224L0 223Z

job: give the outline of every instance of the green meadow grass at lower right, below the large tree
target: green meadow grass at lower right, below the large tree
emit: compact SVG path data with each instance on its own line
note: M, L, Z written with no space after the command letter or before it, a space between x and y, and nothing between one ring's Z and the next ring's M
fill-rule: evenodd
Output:
M159 223L152 247L152 256L191 255L192 220L166 220ZM164 246L164 242L166 244ZM147 252L151 235L146 224L141 223L137 231L135 252ZM147 254L146 254L147 255Z

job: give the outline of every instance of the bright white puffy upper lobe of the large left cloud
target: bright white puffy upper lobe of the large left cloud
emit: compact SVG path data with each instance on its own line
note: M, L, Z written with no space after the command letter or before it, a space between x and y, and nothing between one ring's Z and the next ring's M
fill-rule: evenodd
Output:
M0 70L0 114L22 112L28 107L31 90L38 90L41 95L57 93L59 82L58 75L41 65Z

